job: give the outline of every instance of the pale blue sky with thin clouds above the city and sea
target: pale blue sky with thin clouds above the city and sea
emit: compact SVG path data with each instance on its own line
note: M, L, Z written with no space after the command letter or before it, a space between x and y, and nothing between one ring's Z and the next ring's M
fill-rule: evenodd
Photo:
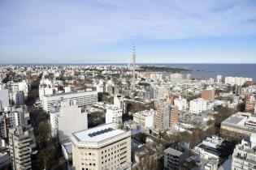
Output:
M0 63L256 63L255 0L0 0Z

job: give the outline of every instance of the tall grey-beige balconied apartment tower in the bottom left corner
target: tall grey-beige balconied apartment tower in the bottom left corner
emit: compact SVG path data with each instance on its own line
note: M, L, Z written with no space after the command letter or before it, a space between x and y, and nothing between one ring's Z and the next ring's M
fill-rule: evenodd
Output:
M33 129L25 130L19 125L9 130L9 149L12 169L32 169L31 152L34 145Z

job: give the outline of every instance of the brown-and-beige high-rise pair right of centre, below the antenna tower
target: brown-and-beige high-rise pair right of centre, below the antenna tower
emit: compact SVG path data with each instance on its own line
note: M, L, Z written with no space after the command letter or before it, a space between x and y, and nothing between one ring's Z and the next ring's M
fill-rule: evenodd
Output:
M160 132L170 129L178 122L179 110L177 106L170 104L167 100L160 99L156 102L154 114L154 129Z

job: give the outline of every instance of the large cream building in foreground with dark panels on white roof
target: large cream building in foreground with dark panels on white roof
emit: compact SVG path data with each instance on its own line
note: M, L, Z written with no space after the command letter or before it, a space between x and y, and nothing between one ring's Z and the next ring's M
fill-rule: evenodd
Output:
M131 169L131 132L111 123L73 133L72 159L76 170Z

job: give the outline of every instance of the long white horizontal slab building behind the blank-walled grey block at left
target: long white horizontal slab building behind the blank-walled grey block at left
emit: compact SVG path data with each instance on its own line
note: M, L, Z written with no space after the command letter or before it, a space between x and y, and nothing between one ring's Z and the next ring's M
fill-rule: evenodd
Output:
M76 91L70 93L54 94L43 96L42 106L46 112L50 112L50 108L58 108L60 100L76 100L76 104L85 106L87 104L96 104L98 101L97 91Z

